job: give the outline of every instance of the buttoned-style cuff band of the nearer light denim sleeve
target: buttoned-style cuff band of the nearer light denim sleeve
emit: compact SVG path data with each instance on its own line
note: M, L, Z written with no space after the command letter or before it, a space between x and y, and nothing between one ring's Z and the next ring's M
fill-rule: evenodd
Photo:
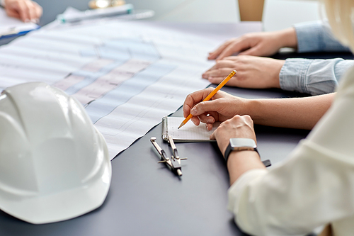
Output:
M306 87L306 74L313 60L290 58L285 60L279 73L280 88L309 94Z

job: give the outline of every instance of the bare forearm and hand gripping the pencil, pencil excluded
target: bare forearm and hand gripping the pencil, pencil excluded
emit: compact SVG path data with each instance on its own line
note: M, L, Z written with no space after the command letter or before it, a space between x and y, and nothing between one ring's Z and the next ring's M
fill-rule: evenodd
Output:
M212 123L236 115L249 115L258 125L310 130L329 109L334 97L334 94L324 94L291 99L242 99L218 91L212 100L201 102L211 91L212 88L196 91L183 103L183 116L191 113L193 123L207 123L208 130Z

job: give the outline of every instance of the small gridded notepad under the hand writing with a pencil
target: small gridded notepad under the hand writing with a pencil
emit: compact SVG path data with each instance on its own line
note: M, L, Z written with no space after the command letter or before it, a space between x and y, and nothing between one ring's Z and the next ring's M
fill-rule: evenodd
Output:
M183 117L164 117L162 118L162 139L169 140L167 135L170 135L175 142L210 142L210 135L217 129L219 122L215 123L212 130L207 130L205 123L194 125L189 120L183 127L178 130Z

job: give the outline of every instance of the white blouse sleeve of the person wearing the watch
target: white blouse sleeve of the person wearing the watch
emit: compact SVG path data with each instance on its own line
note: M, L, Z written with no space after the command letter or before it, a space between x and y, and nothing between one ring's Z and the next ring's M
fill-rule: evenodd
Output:
M229 189L229 210L251 235L303 235L354 214L354 69L330 110L284 162L249 171Z

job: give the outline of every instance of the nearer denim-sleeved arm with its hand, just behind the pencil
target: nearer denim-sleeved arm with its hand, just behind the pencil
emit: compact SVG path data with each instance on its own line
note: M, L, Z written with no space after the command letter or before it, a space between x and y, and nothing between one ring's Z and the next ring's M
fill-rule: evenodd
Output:
M236 70L228 86L240 88L278 88L304 94L328 94L336 90L343 74L354 65L354 60L290 58L275 60L267 57L224 57L208 69L202 77L219 84L229 72Z

